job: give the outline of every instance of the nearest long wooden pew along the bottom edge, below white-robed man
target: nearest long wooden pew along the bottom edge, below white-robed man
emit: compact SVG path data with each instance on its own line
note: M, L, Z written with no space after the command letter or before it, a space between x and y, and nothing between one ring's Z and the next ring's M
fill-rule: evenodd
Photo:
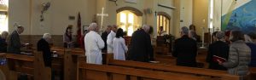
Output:
M134 69L122 66L106 66L78 63L77 80L201 80L199 77L177 77L164 71Z

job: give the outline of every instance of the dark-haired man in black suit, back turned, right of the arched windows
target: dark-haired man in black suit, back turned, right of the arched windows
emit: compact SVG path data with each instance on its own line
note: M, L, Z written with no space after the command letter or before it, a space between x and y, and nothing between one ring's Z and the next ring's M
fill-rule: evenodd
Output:
M188 36L189 29L181 28L181 36L174 43L173 56L177 57L177 66L196 67L195 57L197 54L197 43Z

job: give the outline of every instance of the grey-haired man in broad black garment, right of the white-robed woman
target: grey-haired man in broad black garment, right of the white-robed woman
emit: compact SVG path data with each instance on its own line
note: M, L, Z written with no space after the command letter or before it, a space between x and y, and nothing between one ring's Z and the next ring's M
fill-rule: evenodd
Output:
M142 62L154 60L153 47L148 34L149 28L149 26L144 25L143 29L139 29L132 34L127 60Z

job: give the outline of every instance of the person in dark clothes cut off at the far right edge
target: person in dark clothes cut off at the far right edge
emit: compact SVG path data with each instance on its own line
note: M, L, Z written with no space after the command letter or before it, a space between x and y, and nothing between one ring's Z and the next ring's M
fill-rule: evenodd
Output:
M256 34L250 32L247 34L251 42L247 42L247 46L251 49L251 63L250 66L256 67Z

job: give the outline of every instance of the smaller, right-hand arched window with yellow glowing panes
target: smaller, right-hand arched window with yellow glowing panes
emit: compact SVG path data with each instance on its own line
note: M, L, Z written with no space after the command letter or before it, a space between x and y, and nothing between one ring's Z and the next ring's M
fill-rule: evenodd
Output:
M157 31L160 35L160 26L163 26L163 31L166 31L166 34L170 34L170 18L165 14L157 15Z

